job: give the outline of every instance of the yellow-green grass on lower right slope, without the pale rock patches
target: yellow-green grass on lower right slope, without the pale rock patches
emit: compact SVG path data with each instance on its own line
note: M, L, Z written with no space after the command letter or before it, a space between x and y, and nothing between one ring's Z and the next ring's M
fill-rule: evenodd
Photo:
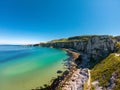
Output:
M106 86L113 72L118 74L116 87L114 90L120 89L120 57L115 53L110 54L107 58L96 64L91 70L91 80L99 80L101 86Z

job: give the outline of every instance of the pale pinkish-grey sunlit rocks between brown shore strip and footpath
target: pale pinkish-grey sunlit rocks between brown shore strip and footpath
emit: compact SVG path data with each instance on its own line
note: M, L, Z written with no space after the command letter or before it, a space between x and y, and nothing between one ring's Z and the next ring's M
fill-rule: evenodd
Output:
M88 79L88 69L77 69L62 90L83 90L83 85Z

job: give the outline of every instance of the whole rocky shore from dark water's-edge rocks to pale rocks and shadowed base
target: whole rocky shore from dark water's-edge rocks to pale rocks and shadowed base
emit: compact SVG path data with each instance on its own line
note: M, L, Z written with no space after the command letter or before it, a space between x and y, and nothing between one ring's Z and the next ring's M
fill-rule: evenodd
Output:
M64 50L67 51L70 56L67 63L68 70L53 80L50 86L32 90L83 90L83 86L89 78L89 69L85 68L85 62L88 58L85 54L82 53L80 55L80 52L73 49Z

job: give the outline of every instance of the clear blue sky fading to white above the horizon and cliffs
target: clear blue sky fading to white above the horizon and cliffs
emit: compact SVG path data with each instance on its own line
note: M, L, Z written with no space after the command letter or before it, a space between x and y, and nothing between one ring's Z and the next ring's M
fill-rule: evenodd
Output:
M0 44L120 35L120 0L0 0Z

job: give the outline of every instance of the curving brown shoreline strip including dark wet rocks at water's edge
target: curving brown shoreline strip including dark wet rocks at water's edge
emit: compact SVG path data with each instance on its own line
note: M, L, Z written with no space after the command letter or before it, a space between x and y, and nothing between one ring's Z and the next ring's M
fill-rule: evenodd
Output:
M64 51L67 52L69 58L67 58L65 61L65 66L66 66L66 70L63 71L62 74L58 74L58 77L55 78L53 80L53 82L50 85L44 85L44 88L40 88L40 89L31 89L31 90L60 90L61 87L64 86L64 84L66 83L66 81L69 80L70 77L72 77L72 75L74 74L74 72L77 70L77 64L76 64L76 60L79 58L80 53L77 51L73 51L71 49L65 49L65 48L60 48Z

